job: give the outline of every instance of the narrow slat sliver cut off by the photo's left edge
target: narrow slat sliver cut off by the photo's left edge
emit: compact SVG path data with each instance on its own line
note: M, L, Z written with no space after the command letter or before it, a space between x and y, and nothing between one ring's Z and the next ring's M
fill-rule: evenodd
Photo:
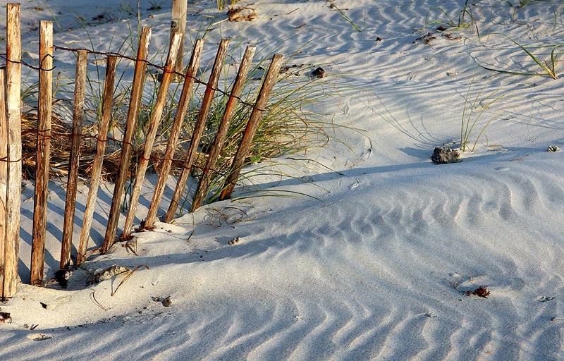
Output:
M4 299L6 238L6 183L8 181L8 120L6 119L6 68L0 68L0 301Z

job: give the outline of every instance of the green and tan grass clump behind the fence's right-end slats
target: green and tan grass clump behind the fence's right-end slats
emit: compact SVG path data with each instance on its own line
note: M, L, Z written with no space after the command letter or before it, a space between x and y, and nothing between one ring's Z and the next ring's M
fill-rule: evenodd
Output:
M264 71L263 65L267 60L269 59L259 61L247 78L241 97L243 102L235 111L221 157L207 190L207 202L213 202L221 193L223 179L227 175L231 161L245 132L252 111L252 106L249 106L249 104L255 103L259 88L258 80L261 78ZM330 97L334 97L331 94L338 94L333 82L334 76L328 75L320 79L303 75L302 73L307 73L305 68L292 65L291 56L288 61L289 63L283 66L271 92L262 122L257 128L252 148L245 159L246 165L261 163L285 154L294 154L309 147L325 145L333 138L331 128L336 127L336 125L332 123L329 116L324 114L323 104ZM228 85L226 89L229 87ZM215 130L221 121L227 99L228 97L224 94L216 98L216 103L207 122L206 133L202 137L200 157L195 162L196 169L205 165L209 145L211 145ZM191 113L197 114L197 111ZM266 166L266 168L269 168L269 166ZM264 169L259 166L243 178L252 177L252 173L257 175L263 172ZM195 175L197 175L197 172Z

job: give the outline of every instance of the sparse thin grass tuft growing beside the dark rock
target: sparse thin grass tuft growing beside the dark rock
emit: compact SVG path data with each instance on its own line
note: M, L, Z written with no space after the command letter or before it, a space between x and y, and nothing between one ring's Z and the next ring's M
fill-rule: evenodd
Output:
M487 85L487 84L486 84ZM480 120L486 111L493 106L495 103L503 99L505 96L500 94L501 90L494 90L487 94L484 94L486 89L486 85L482 87L481 90L476 94L476 97L470 97L470 91L472 89L472 84L468 87L468 91L466 93L466 97L464 99L464 110L462 111L462 121L460 123L460 150L462 152L466 152L468 149L470 152L474 152L476 149L476 145L484 130L489 126L489 124L494 121L501 114L501 111L498 111L493 116L490 116L489 119L481 125L479 129L479 133L474 141L474 145L470 147L468 143L470 142L470 137L474 133L474 128L481 123Z

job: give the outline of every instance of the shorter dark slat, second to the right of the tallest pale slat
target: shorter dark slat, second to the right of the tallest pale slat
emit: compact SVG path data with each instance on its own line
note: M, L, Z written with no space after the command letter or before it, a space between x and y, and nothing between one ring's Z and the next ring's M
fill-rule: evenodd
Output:
M80 161L80 135L84 123L84 100L86 90L86 63L88 51L79 50L76 59L75 102L73 106L73 134L71 156L69 159L65 220L63 223L63 242L61 245L61 269L67 269L71 263L73 247L73 228L75 224L76 190L78 182L78 162Z

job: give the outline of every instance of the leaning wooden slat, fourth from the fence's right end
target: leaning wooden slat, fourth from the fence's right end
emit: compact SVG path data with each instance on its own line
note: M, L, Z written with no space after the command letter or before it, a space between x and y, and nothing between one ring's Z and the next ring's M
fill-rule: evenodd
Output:
M178 145L178 137L180 137L180 131L182 130L184 118L186 117L188 105L190 104L190 97L192 96L192 89L194 88L197 68L200 65L200 58L202 57L202 49L204 49L204 40L198 39L194 44L192 57L190 58L190 63L188 64L188 71L186 71L186 78L184 80L182 93L180 94L180 101L178 102L178 108L176 109L171 133L168 137L168 143L166 144L166 151L164 152L164 159L161 164L159 181L157 181L157 185L154 188L151 206L149 207L149 212L147 212L147 219L145 220L145 227L147 228L152 228L152 226L154 226L155 217L157 216L157 212L161 204L164 188L166 187L166 179L168 178L168 173L171 171L174 152L176 151L176 146Z

